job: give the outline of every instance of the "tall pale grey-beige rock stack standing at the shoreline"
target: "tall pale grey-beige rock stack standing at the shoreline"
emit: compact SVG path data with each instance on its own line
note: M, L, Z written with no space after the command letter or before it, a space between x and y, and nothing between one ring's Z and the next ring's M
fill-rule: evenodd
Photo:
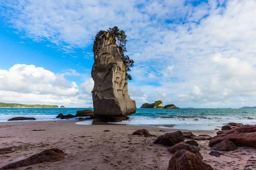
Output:
M109 122L126 120L135 113L136 103L128 94L125 64L116 45L115 35L102 31L93 45L94 87L93 111L95 119Z

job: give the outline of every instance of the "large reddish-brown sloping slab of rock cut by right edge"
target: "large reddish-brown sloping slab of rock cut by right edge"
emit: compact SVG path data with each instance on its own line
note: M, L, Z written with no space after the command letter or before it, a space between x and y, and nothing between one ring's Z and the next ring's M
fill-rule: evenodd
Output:
M221 141L231 141L236 146L247 146L256 148L256 126L241 126L226 131L225 133L214 136L209 141L209 147Z

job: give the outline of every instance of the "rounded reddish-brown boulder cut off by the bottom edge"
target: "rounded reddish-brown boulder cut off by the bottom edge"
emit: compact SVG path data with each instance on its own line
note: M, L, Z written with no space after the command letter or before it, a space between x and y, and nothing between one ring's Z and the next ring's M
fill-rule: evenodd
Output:
M188 150L179 150L170 159L167 170L213 170L213 168L196 154Z

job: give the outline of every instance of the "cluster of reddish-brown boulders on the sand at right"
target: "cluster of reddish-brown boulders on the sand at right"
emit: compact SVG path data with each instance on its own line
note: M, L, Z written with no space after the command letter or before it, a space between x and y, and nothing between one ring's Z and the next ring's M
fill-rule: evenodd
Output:
M157 137L153 143L167 146L167 150L174 154L169 161L167 170L213 170L211 165L204 162L195 140L209 140L209 147L212 149L209 155L216 157L224 155L218 151L233 151L239 146L256 148L256 125L244 126L239 123L229 123L223 126L222 130L224 133L214 137L195 136L192 132L181 131L165 133ZM137 130L133 135L154 136L145 129ZM195 140L185 142L185 139Z

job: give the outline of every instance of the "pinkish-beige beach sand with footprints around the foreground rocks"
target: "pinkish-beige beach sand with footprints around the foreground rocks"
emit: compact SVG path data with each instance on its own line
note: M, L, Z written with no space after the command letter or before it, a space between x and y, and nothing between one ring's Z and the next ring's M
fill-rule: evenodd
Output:
M66 159L15 170L29 167L33 170L166 170L173 155L166 146L153 144L157 137L146 138L131 134L145 128L151 134L160 136L177 129L130 125L76 125L76 122L79 121L0 122L0 148L12 147L15 150L13 153L0 154L0 167L52 147L67 153ZM181 131L215 136L217 130ZM198 147L204 161L215 170L256 170L256 149L239 147L235 151L222 152L224 155L221 157L215 157L208 154L211 150L208 142L198 141Z

